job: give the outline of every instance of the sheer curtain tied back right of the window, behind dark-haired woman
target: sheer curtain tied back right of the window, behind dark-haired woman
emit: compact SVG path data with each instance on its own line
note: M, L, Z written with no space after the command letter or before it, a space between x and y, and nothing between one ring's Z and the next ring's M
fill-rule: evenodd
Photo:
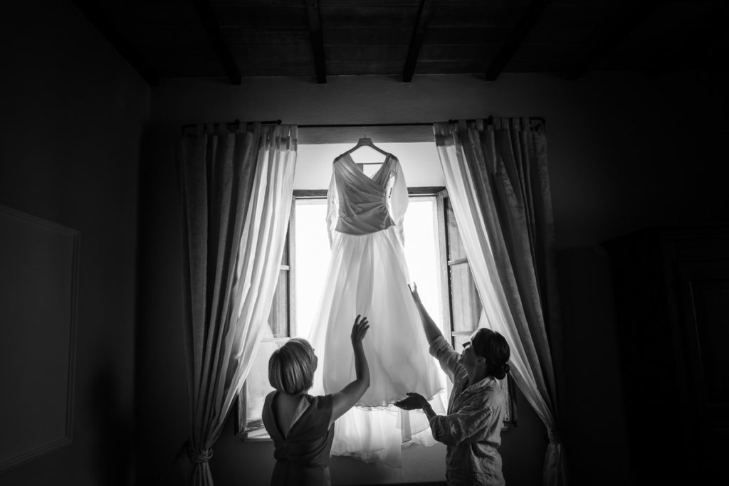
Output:
M547 324L557 324L554 224L542 126L528 118L434 124L435 143L479 297L504 335L512 376L547 427L545 486L566 485ZM539 125L539 124L538 124ZM555 334L553 334L555 335Z

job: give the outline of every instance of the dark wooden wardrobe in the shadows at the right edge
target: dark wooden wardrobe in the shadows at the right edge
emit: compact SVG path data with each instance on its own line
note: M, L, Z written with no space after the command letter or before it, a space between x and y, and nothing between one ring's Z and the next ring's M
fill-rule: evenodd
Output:
M729 485L729 227L653 228L604 247L632 484Z

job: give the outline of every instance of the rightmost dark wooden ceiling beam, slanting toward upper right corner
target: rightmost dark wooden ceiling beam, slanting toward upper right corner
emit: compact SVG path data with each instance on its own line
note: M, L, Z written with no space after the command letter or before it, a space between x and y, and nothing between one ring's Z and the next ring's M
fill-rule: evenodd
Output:
M666 0L639 1L636 4L633 15L628 17L624 23L617 26L617 28L602 29L601 34L596 34L596 37L593 38L593 47L572 63L572 67L567 71L567 78L574 80L582 77L582 74L589 71L599 60L615 49L615 46L623 41L628 34L631 34L636 28L642 26L655 9L664 3L666 3Z

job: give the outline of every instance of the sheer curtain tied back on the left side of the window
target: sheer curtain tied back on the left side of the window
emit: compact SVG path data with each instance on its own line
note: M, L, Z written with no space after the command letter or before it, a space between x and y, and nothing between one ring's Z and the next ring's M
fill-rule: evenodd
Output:
M179 144L184 342L192 484L257 353L278 279L296 163L295 126L199 125Z

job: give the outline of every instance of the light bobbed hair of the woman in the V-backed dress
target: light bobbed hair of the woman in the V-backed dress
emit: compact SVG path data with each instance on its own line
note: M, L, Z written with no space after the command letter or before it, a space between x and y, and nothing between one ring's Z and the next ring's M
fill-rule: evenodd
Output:
M294 337L273 351L268 360L268 381L278 391L295 395L313 385L316 356L311 344Z

